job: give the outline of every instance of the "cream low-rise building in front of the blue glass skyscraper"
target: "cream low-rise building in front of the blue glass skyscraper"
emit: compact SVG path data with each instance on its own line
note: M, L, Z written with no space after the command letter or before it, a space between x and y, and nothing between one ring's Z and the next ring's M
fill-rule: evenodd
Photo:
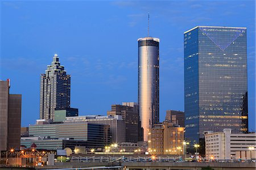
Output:
M252 151L249 148L253 148ZM205 156L208 160L255 159L255 148L255 133L232 134L230 128L224 128L222 132L205 131Z

